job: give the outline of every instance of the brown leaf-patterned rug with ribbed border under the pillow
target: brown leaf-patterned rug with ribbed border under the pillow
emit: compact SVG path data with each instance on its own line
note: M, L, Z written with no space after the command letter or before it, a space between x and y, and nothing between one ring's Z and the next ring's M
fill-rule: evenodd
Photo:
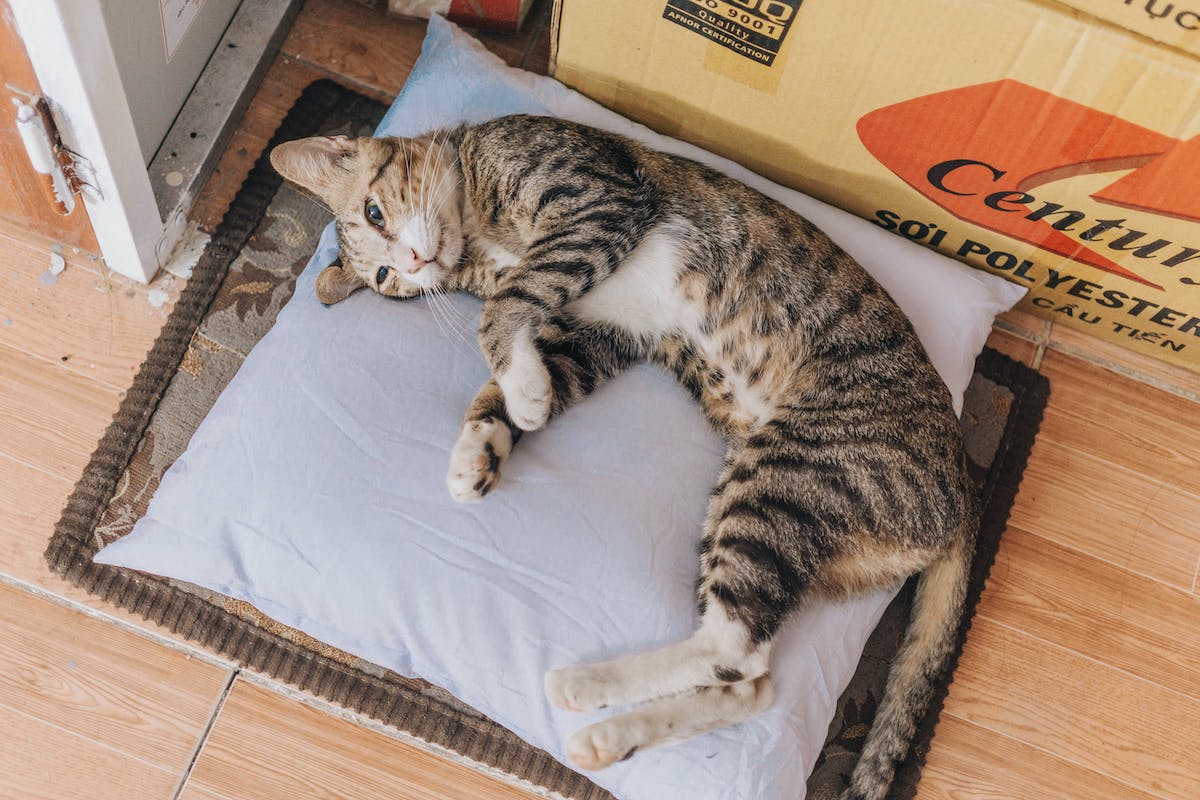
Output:
M318 133L368 134L385 108L329 80L312 84L271 145ZM77 585L154 620L248 669L266 673L488 768L566 798L611 795L516 735L424 681L398 675L317 642L252 606L180 582L92 564L104 545L130 533L158 480L182 453L254 343L292 296L328 212L289 187L266 157L256 164L197 265L154 349L76 486L46 558ZM1045 407L1037 372L992 350L976 366L962 414L973 476L983 497L971 610ZM904 633L911 585L888 608L809 780L809 796L830 800L846 786ZM901 766L893 798L907 800L929 750L949 675Z

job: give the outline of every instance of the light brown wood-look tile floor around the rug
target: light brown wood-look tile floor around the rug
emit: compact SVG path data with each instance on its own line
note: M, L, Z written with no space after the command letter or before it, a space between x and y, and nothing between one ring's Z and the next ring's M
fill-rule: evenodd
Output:
M310 80L386 100L422 31L310 0L194 217L215 224ZM534 37L490 43L545 64ZM67 253L48 285L48 248L0 224L0 798L529 796L48 573L59 510L180 284ZM992 344L1054 396L919 796L1194 800L1200 374L1022 313Z

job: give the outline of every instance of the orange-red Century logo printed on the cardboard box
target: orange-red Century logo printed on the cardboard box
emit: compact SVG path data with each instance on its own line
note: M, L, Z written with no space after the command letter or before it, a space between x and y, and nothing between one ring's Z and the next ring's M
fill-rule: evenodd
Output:
M1008 79L874 110L858 136L898 178L966 222L1158 289L1105 251L1200 266L1200 247L1135 230L1120 212L1088 215L1036 193L1074 175L1133 169L1092 199L1200 222L1200 137L1181 142Z

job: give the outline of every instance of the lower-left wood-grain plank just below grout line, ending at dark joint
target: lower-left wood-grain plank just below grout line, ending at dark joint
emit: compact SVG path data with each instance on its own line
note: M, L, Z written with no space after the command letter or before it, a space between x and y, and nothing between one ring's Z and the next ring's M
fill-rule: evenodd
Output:
M179 772L229 672L0 585L0 706Z

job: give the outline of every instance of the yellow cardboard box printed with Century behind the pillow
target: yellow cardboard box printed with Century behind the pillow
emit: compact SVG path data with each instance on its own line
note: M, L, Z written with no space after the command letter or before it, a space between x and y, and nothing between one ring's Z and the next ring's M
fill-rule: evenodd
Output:
M1200 369L1200 0L558 0L552 46L622 114Z

